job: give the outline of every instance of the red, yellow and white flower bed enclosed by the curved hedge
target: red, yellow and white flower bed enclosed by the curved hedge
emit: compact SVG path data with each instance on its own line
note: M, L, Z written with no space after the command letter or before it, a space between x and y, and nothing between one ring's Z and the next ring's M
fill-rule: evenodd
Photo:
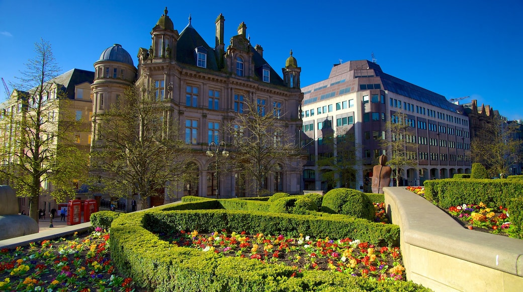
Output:
M267 264L283 264L296 269L319 269L353 276L373 277L378 280L404 279L400 249L374 246L349 238L312 239L283 235L231 234L226 230L213 233L175 231L160 234L160 238L177 246L214 252L222 256L246 257Z

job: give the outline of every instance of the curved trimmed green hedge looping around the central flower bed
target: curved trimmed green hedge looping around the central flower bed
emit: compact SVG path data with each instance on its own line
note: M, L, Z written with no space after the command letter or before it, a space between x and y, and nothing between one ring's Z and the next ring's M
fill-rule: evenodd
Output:
M188 210L192 207L194 203L174 204L116 218L111 226L111 259L115 265L140 286L154 291L429 291L412 282L378 282L324 271L304 271L292 277L295 270L289 266L180 248L151 232L173 228L201 232L225 228L292 236L302 232L314 237L350 237L396 245L397 226L369 224L367 220L342 215ZM172 209L184 210L165 211ZM368 229L370 225L373 227Z

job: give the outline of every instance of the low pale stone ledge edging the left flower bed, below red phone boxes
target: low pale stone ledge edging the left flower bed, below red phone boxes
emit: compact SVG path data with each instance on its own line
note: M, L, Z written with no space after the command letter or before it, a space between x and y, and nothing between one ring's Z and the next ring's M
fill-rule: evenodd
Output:
M91 227L90 222L80 223L76 225L67 225L67 222L60 221L60 217L53 219L53 227L50 227L50 223L51 222L49 217L47 219L41 219L38 222L38 225L40 227L38 233L0 240L0 249L14 249L17 246L27 245L30 242L64 237L65 235L73 234L74 232L85 231Z

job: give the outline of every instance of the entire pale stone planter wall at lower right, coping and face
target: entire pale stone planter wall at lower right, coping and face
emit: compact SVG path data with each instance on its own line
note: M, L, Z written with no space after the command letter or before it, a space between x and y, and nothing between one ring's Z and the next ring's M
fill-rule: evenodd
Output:
M523 290L523 240L465 229L403 187L383 190L408 280L435 291Z

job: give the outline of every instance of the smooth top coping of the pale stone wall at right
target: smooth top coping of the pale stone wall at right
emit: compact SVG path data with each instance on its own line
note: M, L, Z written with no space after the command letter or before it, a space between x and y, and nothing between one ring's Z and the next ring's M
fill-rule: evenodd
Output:
M523 240L465 229L446 212L402 187L383 190L392 223L400 226L402 244L523 277Z

